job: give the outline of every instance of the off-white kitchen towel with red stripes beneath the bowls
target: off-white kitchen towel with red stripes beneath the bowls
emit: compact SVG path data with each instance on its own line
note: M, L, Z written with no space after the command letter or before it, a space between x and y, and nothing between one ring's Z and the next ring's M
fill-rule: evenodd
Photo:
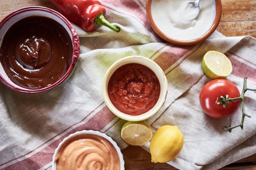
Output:
M210 79L201 60L209 50L225 53L233 64L227 79L242 89L256 88L256 40L249 36L225 37L215 31L205 42L192 46L166 43L151 29L145 0L104 0L107 18L121 28L119 33L101 27L80 35L81 55L74 75L62 87L44 94L21 94L0 84L0 169L51 168L52 155L68 135L80 130L99 130L120 146L124 120L105 105L101 93L103 76L116 60L129 55L148 57L163 69L168 96L161 110L148 119L153 131L162 125L177 125L184 134L184 147L169 164L182 170L215 170L256 153L256 95L246 93L244 130L221 130L229 118L213 119L198 102L200 89ZM239 122L241 111L232 116ZM149 144L144 149L149 150Z

